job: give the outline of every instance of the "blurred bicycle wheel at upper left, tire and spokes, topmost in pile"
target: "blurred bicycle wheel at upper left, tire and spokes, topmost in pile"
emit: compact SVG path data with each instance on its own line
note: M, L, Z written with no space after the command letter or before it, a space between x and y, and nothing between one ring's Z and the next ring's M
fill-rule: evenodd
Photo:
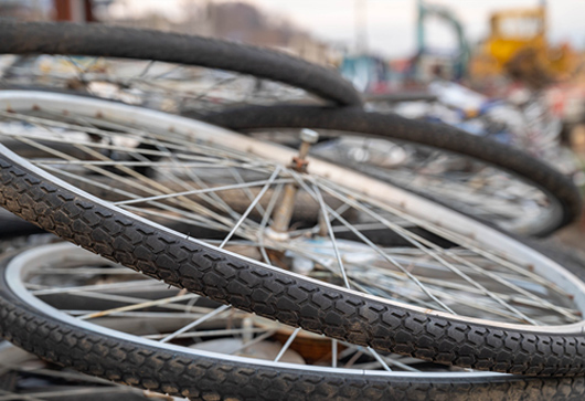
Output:
M333 70L225 41L71 23L2 22L0 35L0 54L10 59L0 71L6 87L85 92L176 113L278 98L361 102Z

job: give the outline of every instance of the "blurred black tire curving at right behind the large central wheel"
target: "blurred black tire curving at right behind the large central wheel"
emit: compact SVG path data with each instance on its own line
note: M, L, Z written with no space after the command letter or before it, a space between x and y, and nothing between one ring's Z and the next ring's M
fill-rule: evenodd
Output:
M573 181L552 167L521 150L487 138L470 136L443 124L430 124L393 114L366 113L358 108L334 109L288 105L243 107L210 114L203 119L210 124L238 131L267 128L312 128L359 133L359 135L404 140L470 156L526 180L559 202L561 213L551 215L549 221L538 222L536 225L520 232L524 235L546 236L576 221L583 208L579 190ZM429 197L424 191L418 194L445 204L444 200Z

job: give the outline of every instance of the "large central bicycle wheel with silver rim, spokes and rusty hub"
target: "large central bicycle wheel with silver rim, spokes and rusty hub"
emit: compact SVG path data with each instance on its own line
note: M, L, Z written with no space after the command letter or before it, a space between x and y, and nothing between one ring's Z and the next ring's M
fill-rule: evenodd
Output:
M413 193L319 160L306 170L313 133L297 154L105 101L0 98L10 109L2 136L47 154L26 161L2 148L2 205L67 241L173 286L381 351L524 374L585 369L578 278ZM224 190L241 191L248 208L234 210ZM317 222L290 221L295 192L313 199ZM110 202L110 193L124 200ZM173 232L151 215L193 231ZM193 239L200 226L223 240ZM393 236L408 246L385 242Z

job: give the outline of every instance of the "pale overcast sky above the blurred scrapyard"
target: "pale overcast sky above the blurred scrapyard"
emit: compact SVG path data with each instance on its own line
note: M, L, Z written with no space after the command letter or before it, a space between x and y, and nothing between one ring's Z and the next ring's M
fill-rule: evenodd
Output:
M124 0L135 9L157 9L180 19L172 3L188 0ZM193 0L194 2L203 0ZM226 1L226 0L215 0ZM296 25L326 41L354 44L355 3L365 3L369 49L385 56L407 56L415 49L415 0L241 0L285 17ZM477 42L488 32L491 11L536 6L539 0L427 0L448 6L465 27L469 41ZM549 0L549 36L555 42L570 41L585 48L585 0ZM455 35L443 23L427 25L433 48L455 46Z

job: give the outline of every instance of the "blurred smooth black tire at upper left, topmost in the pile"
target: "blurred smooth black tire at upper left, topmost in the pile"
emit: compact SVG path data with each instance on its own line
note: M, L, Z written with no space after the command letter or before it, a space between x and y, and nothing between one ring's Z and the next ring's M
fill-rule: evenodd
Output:
M288 54L193 35L103 24L2 22L0 53L157 60L251 74L289 84L339 105L361 105L333 70Z

